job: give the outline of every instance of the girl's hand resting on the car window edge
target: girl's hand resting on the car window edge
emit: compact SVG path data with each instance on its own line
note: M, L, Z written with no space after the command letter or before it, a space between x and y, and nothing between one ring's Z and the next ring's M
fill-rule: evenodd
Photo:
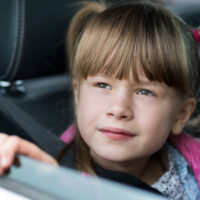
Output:
M16 154L58 165L58 162L52 156L42 151L37 145L18 136L0 133L0 175L4 174L5 170L13 164Z

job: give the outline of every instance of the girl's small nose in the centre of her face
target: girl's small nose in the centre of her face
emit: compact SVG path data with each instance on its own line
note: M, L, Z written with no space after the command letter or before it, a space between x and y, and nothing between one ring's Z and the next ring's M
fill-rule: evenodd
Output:
M130 97L115 97L110 102L107 109L107 116L120 120L130 120L133 118L132 105Z

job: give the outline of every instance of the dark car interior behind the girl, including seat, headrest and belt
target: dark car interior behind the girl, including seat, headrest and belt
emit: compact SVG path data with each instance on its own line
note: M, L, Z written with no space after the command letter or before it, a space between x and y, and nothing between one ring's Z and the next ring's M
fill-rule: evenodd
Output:
M73 122L65 36L80 0L0 0L0 131L38 144L55 156ZM123 2L109 1L109 2ZM200 1L163 1L191 29ZM200 106L194 116L199 113ZM195 130L187 130L200 136Z

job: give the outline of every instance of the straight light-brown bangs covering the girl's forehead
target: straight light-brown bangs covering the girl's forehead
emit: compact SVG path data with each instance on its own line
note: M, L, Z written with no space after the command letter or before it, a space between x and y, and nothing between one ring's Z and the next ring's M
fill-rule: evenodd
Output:
M126 14L115 6L92 17L76 49L73 78L105 74L139 81L142 70L151 81L185 91L186 56L178 25L166 11L134 6Z

